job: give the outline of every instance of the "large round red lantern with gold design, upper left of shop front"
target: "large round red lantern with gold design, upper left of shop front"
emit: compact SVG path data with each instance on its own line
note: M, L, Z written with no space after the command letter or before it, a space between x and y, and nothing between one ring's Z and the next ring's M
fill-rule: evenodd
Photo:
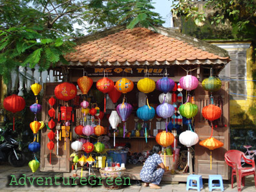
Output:
M56 98L63 101L72 100L75 98L77 92L76 85L67 82L57 85L54 89Z

